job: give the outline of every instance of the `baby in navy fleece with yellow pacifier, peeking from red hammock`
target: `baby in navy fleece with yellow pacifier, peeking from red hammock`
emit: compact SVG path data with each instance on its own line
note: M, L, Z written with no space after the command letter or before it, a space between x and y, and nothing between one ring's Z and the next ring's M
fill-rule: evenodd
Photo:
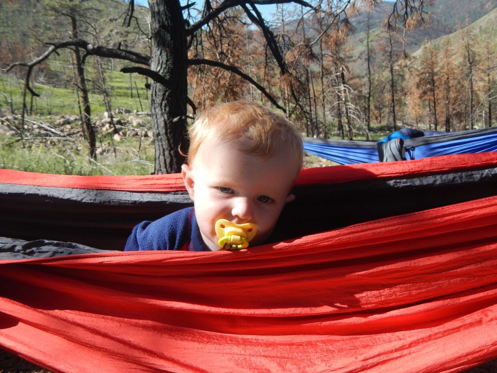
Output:
M295 198L290 190L302 168L301 135L283 116L249 101L217 104L188 132L181 176L194 207L138 224L125 251L214 251L246 248L250 239L250 246L267 242L283 206Z

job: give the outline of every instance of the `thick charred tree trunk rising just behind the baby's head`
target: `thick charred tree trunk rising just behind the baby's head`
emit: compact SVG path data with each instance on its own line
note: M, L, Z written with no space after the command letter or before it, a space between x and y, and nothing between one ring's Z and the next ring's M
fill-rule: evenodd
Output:
M186 132L187 41L179 0L149 0L151 70L164 78L152 82L151 111L155 144L155 173L181 172L188 149Z

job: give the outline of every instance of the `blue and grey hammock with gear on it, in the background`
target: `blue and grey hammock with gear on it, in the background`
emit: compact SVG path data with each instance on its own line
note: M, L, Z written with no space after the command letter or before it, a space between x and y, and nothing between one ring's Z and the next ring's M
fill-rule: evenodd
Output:
M494 152L497 151L497 127L461 132L402 128L378 142L305 137L304 151L340 165Z

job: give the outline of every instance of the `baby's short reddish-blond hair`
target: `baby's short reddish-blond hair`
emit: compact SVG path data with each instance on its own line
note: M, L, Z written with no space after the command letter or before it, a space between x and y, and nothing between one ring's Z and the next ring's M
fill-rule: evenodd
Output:
M188 129L189 166L192 166L202 142L212 135L227 141L247 140L248 147L240 150L261 159L270 157L276 146L281 147L289 156L295 156L298 168L302 168L304 148L301 134L284 116L254 102L222 102L197 116Z

